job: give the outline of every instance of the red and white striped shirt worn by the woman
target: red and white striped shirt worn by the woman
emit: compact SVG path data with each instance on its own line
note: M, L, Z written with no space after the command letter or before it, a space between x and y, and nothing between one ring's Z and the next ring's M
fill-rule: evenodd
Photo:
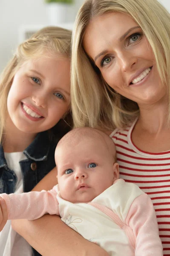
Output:
M170 256L170 151L149 153L137 148L131 140L135 122L110 135L116 147L120 177L138 185L152 199L164 256Z

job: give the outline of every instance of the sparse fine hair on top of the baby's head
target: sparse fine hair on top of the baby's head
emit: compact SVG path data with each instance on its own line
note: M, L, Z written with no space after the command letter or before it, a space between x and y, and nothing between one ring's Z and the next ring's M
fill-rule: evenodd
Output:
M65 136L61 138L57 145L57 148L60 145L71 145L76 141L79 142L83 140L84 137L89 137L90 139L97 139L103 141L106 148L108 149L108 152L112 155L114 162L116 162L116 150L112 138L110 138L103 131L97 130L95 128L79 127L73 129L72 131L69 131Z

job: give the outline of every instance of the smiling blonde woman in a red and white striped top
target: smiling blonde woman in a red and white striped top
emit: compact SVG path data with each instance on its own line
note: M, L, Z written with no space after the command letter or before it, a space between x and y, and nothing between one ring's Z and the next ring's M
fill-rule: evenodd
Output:
M87 0L83 4L75 22L72 48L75 126L100 127L109 134L119 129L113 139L121 177L136 183L153 199L164 255L170 255L169 84L170 15L160 3ZM25 230L17 230L38 249L42 243L36 235L32 239L31 232L43 232L43 224L48 224L54 239L46 245L46 252L55 246L57 252L56 247L60 248L59 255L64 255L64 250L65 255L83 255L83 239L72 236L71 230L61 230L61 226L59 232L55 230L56 216L45 218L22 222ZM67 242L61 244L64 237L65 241L70 237L69 249L63 246ZM93 251L93 255L98 253Z

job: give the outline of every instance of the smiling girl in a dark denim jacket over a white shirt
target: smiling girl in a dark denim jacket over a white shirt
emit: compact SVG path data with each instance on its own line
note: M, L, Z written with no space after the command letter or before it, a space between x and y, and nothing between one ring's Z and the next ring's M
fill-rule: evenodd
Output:
M69 112L70 42L67 29L41 29L2 73L0 193L28 192L55 167L55 146L66 132L58 122ZM32 255L10 221L0 233L0 255Z

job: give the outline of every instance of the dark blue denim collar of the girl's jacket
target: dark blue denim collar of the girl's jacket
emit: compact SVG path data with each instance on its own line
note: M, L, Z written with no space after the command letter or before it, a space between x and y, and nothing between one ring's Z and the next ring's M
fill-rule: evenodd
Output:
M35 140L23 151L29 159L35 161L46 160L50 147L50 141L47 131L40 132ZM3 146L0 145L0 168L7 166L4 156Z

